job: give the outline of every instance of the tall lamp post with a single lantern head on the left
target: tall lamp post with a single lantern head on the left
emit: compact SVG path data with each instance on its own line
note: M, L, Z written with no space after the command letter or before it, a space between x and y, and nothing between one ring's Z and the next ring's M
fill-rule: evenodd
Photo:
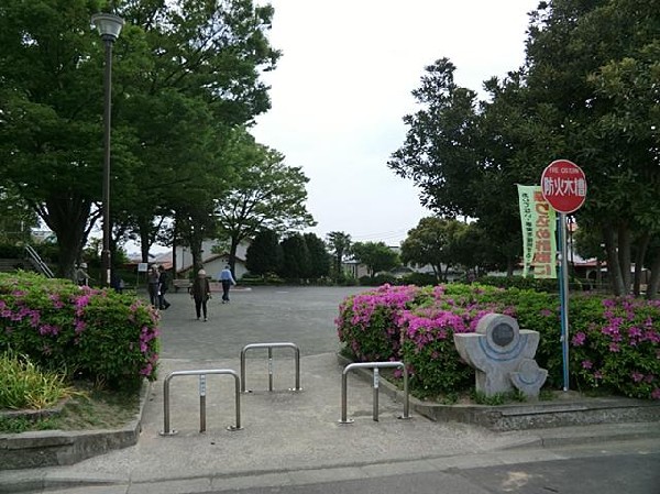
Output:
M124 20L111 13L95 13L91 23L106 44L105 110L103 110L103 251L101 252L102 286L110 286L110 108L112 89L112 45L119 37Z

